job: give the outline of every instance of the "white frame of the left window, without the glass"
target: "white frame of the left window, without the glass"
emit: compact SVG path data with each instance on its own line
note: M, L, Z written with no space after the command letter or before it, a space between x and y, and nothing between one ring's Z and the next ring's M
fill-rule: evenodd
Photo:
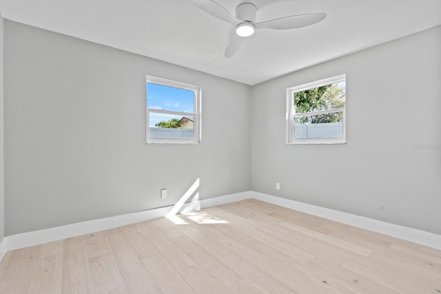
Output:
M194 92L194 112L176 112L173 110L154 109L148 107L147 83L163 85L165 87L174 87L176 89L189 90ZM158 78L156 76L145 76L145 109L146 109L146 139L147 144L165 143L165 144L199 144L201 143L201 96L202 89L199 86L178 81L172 81L167 78ZM150 138L150 113L173 114L178 116L193 116L193 138Z

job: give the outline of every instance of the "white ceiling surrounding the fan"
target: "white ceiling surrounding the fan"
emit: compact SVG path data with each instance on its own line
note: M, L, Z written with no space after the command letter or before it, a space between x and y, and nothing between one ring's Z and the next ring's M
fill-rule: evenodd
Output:
M208 0L207 0L208 1ZM241 0L216 0L232 14ZM233 26L189 0L0 0L3 17L254 85L441 25L441 0L244 0L256 21L325 12L295 30L258 30L225 59Z

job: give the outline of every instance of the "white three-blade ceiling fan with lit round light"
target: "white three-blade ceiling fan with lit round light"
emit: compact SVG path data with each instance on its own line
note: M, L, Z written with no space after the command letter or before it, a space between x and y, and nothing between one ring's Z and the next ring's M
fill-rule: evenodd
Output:
M231 14L226 8L213 0L191 0L198 8L208 14L231 23L236 28L236 35L225 49L225 58L234 56L240 49L243 40L254 34L255 30L273 29L290 30L313 25L325 19L325 13L311 13L290 15L256 23L257 8L253 3L240 3L236 6L236 15Z

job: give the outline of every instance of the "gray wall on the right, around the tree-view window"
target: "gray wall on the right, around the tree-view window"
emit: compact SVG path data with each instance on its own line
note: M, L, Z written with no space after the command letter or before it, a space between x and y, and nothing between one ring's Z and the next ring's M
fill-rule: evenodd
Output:
M441 234L440 52L438 26L255 85L252 189ZM347 144L285 145L286 88L338 74Z

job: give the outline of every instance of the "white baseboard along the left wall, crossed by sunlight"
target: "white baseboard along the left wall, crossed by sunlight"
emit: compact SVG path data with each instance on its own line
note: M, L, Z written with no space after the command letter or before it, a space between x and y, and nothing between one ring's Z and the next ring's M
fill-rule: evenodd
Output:
M205 208L251 198L251 195L251 191L246 191L242 193L235 193L231 195L219 196L216 198L198 201L200 202L201 207ZM187 203L187 205L189 204L194 204L194 202ZM185 209L185 207L186 205L183 205L183 207L180 208L179 211ZM78 222L61 227L31 231L27 233L19 233L17 235L9 235L3 239L3 242L0 243L0 246L3 246L3 248L5 249L4 251L6 252L14 249L20 249L28 246L34 246L47 242L62 240L65 238L75 237L78 235L85 235L97 231L114 229L117 227L126 226L128 224L136 224L137 222L145 222L147 220L154 220L155 218L163 218L167 215L167 213L170 213L173 208L173 206L162 207L158 209L150 209L147 211L127 213L121 216L112 216L110 218L101 218L99 220ZM2 247L0 247L0 253L1 249Z

